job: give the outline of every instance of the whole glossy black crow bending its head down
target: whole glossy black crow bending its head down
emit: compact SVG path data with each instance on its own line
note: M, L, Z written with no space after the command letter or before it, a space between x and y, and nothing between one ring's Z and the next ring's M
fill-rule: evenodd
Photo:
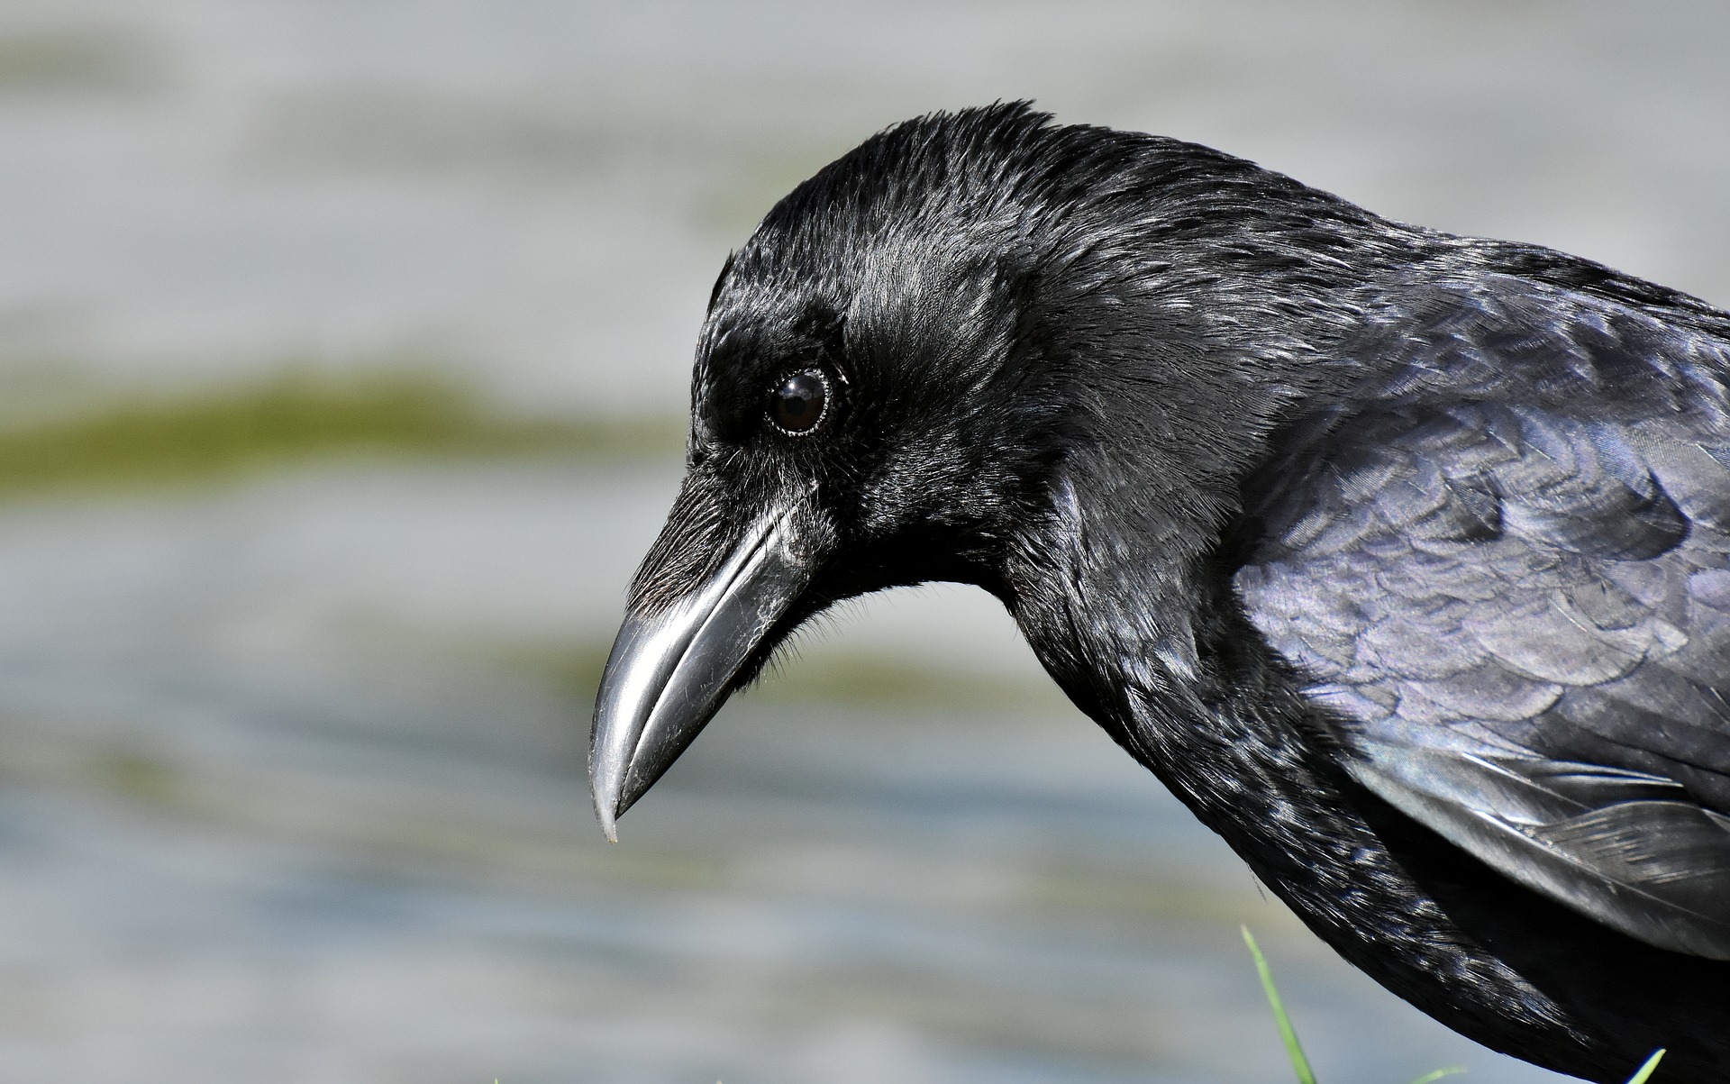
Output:
M1311 930L1495 1049L1730 1079L1730 313L1022 104L728 258L592 745L979 584Z

